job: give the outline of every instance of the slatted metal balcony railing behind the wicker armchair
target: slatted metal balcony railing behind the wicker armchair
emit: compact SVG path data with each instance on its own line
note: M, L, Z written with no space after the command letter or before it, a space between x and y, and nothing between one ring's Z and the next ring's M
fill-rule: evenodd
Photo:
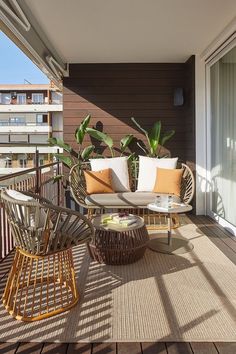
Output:
M63 205L64 195L60 181L54 183L54 176L60 174L59 162L39 166L39 154L36 153L36 167L22 172L0 176L0 188L32 191L54 204ZM9 228L7 217L0 201L0 261L14 248L14 242Z

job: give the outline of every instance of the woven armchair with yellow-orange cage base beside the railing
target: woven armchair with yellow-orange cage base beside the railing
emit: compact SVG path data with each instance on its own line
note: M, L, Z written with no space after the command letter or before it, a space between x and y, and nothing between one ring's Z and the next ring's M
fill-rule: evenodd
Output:
M0 195L16 245L3 304L16 319L35 321L78 302L72 247L88 242L94 231L80 213L24 195L31 199L14 199L6 190Z

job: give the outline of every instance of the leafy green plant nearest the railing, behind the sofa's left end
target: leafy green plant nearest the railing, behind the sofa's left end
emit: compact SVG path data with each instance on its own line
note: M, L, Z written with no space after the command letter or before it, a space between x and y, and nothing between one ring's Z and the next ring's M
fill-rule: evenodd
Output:
M66 167L71 168L74 164L86 161L90 155L94 152L95 146L89 145L83 147L84 137L88 128L91 116L87 117L81 122L80 126L75 130L75 139L78 145L78 151L73 149L71 145L64 142L62 139L50 138L48 140L50 146L58 146L64 151L60 154L54 154L54 156L61 161Z

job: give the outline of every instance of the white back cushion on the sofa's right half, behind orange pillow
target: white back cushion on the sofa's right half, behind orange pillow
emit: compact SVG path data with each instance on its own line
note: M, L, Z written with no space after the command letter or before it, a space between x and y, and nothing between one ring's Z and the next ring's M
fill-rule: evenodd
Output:
M139 156L138 187L136 192L152 192L155 181L157 167L174 169L177 166L178 157L157 158Z

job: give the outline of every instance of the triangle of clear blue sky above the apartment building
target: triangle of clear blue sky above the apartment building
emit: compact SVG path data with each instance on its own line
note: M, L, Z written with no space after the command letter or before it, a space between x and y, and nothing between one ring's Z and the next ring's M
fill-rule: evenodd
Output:
M46 75L0 31L0 84L47 84Z

